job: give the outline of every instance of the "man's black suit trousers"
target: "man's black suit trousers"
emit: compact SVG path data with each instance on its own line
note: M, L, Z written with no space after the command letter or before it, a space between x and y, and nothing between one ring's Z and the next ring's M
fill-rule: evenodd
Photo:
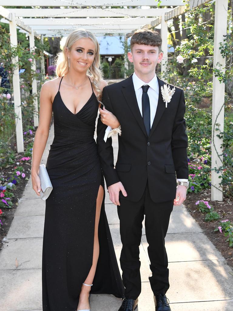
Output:
M120 199L117 207L120 219L120 234L122 242L121 269L122 279L127 299L138 298L141 292L139 245L142 236L142 221L145 215L145 232L149 244L150 258L149 276L151 289L155 294L165 295L169 288L168 261L165 248L165 236L169 225L173 200L155 203L151 200L148 184L143 197L138 202Z

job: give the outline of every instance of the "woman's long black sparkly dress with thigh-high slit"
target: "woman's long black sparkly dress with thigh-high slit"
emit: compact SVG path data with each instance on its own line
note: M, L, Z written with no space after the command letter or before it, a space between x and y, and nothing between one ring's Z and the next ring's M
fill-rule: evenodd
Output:
M73 114L62 101L60 85L53 100L54 140L46 164L53 191L45 210L43 311L76 310L82 283L92 266L99 186L104 189L94 140L98 100L93 87L87 103ZM104 197L98 226L99 258L91 293L124 298Z

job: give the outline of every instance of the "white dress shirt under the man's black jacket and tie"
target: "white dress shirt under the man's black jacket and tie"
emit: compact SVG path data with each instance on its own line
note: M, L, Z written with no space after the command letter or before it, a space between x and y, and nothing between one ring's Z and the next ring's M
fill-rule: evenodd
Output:
M150 101L150 128L152 128L152 124L154 121L154 117L156 114L156 109L158 106L158 95L159 95L159 86L158 86L158 79L157 76L155 75L153 77L153 79L148 82L145 83L144 81L142 81L141 79L139 79L139 77L135 74L135 72L133 73L132 76L133 79L133 84L134 84L134 89L135 89L135 94L136 94L136 98L137 98L137 102L138 102L138 107L142 116L142 86L143 85L148 85L148 91L147 94L149 96L149 101ZM105 137L104 140L106 142L107 140L107 135L108 132L111 131L111 127L108 126L105 132ZM188 181L188 179L180 179L177 178L177 181Z

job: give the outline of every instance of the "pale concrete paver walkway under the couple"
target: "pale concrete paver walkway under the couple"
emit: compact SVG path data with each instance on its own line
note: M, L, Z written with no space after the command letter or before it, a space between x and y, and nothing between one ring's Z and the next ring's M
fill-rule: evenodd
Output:
M42 163L53 141L53 127ZM117 138L113 139L117 156ZM105 209L119 262L121 239L117 209L106 191ZM27 184L0 253L0 310L41 311L41 259L45 203ZM139 311L154 310L148 276L149 258L143 227L140 245L142 293ZM233 310L233 272L225 259L203 234L185 207L174 207L166 237L172 311ZM16 267L16 258L18 267ZM92 295L92 311L117 311L121 299ZM111 306L111 307L110 307ZM65 310L64 310L65 311Z

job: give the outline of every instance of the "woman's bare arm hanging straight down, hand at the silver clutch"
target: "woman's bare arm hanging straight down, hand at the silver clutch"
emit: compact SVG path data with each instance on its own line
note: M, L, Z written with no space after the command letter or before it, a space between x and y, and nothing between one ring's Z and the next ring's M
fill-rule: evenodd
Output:
M38 176L38 170L48 140L49 127L52 118L51 82L52 81L49 81L43 84L40 91L39 126L35 133L32 149L32 188L37 195L40 195L40 178Z

